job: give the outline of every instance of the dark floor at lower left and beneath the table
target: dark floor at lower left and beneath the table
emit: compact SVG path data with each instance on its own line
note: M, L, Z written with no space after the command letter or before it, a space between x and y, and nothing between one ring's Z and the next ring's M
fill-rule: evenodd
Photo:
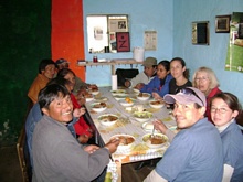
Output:
M146 165L136 171L138 164L123 164L123 182L141 182L154 169ZM22 182L15 146L0 148L0 182Z

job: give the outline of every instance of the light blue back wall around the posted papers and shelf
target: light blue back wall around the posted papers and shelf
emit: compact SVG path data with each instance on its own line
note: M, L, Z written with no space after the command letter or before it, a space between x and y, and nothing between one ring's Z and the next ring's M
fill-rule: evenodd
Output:
M85 32L85 56L92 61L93 54L87 50L86 15L88 14L128 14L130 47L144 46L144 32L157 31L158 49L146 51L145 57L155 56L158 61L170 60L172 56L172 21L173 2L168 0L139 0L139 1L114 1L114 0L83 0L84 6L84 32ZM131 58L133 52L128 53L104 53L97 54L98 58ZM124 66L117 66L124 67ZM126 66L129 68L129 66ZM142 69L140 66L138 67ZM110 85L110 68L87 67L86 82L99 86Z

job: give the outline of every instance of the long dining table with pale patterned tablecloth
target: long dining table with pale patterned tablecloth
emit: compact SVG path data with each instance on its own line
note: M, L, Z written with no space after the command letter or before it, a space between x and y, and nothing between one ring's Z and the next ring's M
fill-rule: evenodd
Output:
M176 121L171 115L171 110L167 109L166 106L161 108L152 108L149 101L152 100L150 97L148 100L137 99L137 92L133 88L120 88L126 94L120 96L119 94L113 94L112 87L99 87L98 94L94 96L94 99L87 100L85 106L91 120L91 125L95 130L96 142L98 146L107 143L112 137L116 135L129 135L135 138L133 146L129 148L118 148L118 150L112 154L112 160L116 161L119 165L123 163L130 163L136 161L144 161L149 159L161 158L169 147L169 142L165 143L160 148L150 148L146 142L142 141L142 137L147 133L151 133L151 130L145 128L145 124L152 122L152 120L161 120L168 127L173 129ZM120 90L118 88L118 90ZM124 107L120 105L120 100L124 98L130 98L134 101L134 106ZM94 110L95 104L105 103L106 107L103 110ZM148 113L152 114L152 117L148 121L142 122L136 120L133 115L133 108L142 108ZM118 120L112 125L106 126L98 119L103 115L115 115Z

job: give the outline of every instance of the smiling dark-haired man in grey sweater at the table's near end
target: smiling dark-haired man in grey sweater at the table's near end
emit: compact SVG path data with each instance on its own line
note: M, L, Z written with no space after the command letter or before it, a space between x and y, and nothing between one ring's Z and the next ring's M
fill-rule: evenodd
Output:
M73 118L73 104L61 85L44 87L39 104L44 115L33 133L33 182L87 182L104 174L119 140L110 140L104 148L78 143L66 127Z

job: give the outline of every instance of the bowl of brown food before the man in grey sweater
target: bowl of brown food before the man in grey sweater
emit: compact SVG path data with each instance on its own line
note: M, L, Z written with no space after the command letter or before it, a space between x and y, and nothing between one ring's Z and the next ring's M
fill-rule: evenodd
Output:
M130 149L130 147L135 142L135 138L130 135L115 135L110 139L119 139L119 146L117 147L117 150L127 150Z

